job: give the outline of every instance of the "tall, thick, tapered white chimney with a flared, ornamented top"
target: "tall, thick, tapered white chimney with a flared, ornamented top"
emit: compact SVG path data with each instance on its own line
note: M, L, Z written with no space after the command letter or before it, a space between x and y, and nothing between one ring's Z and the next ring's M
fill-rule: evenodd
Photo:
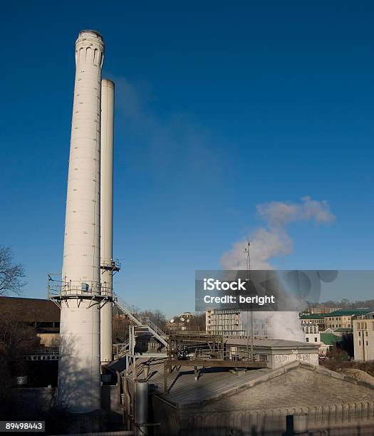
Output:
M61 285L58 406L100 409L100 112L103 37L76 41Z

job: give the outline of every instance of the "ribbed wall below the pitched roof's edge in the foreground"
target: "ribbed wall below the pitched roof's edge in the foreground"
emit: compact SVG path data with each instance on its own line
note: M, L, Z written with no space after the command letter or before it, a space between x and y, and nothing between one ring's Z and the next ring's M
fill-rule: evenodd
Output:
M372 435L374 403L348 403L318 407L277 408L272 410L176 409L155 397L155 420L161 427L155 435L219 436L280 435L286 431L286 416L306 413L309 431L325 431L330 436ZM157 429L157 427L156 427Z

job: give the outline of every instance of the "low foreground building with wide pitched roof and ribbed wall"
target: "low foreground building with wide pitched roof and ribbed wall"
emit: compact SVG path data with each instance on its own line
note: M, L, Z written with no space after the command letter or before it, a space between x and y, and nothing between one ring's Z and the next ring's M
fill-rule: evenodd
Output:
M365 383L294 360L280 368L205 368L196 380L183 366L167 373L162 360L142 358L128 378L128 395L147 380L155 435L281 435L287 416L303 434L370 434L374 390Z

